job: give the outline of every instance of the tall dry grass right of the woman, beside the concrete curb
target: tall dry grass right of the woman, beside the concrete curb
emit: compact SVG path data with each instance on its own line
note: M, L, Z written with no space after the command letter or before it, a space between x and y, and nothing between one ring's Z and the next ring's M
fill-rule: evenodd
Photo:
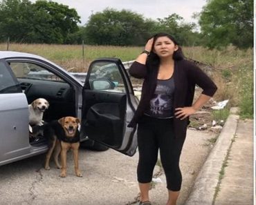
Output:
M214 99L229 99L228 106L239 106L242 118L253 118L253 49L226 50L185 48L185 54L214 68L212 78L218 86Z

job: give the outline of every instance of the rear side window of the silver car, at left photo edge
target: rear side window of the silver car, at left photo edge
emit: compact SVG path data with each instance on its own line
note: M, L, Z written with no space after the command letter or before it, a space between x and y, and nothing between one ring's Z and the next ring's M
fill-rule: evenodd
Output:
M0 94L22 92L19 82L12 76L8 64L0 61Z

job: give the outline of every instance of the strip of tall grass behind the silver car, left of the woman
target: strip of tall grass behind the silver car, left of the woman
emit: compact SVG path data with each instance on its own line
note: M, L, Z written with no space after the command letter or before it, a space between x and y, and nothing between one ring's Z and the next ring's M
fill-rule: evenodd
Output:
M0 43L0 50L6 50L6 48L7 45L5 43ZM81 45L11 43L9 50L30 52L45 57L66 68L66 70L85 72L91 61L98 57L117 57L122 61L130 61L136 58L142 48L125 46L84 46L84 57L82 55Z

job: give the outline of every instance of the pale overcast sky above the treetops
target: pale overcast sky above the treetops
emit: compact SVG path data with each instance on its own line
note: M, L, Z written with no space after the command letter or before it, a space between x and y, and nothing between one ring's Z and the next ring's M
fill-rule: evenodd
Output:
M105 8L116 10L131 10L142 14L147 19L168 17L176 13L183 17L185 22L196 22L192 19L194 12L200 12L205 6L206 0L52 0L62 3L69 8L75 8L81 17L81 24L84 25L91 13L102 12ZM35 1L33 1L35 2Z

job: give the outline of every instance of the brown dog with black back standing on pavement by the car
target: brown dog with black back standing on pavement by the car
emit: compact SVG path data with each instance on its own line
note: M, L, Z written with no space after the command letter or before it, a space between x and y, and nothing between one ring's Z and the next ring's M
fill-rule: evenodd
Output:
M73 159L75 161L75 175L77 175L77 177L82 177L78 168L80 136L77 128L79 124L80 119L78 118L62 117L61 119L52 121L46 125L44 136L48 137L49 142L49 150L46 154L46 164L44 166L46 170L50 169L49 162L54 150L53 157L55 164L57 165L57 168L62 169L60 177L66 177L66 152L71 148L73 150ZM60 153L62 166L60 166L58 162Z

